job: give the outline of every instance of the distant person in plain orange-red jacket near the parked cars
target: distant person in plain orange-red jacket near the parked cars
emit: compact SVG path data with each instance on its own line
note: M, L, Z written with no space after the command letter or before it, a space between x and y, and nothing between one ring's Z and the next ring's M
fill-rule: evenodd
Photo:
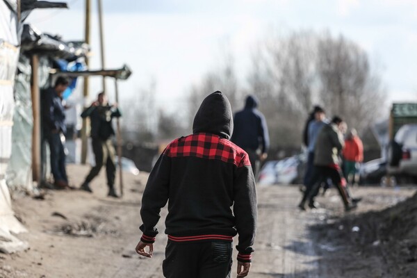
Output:
M363 144L356 129L351 129L345 139L343 149L345 177L347 183L353 184L359 181L359 165L363 161Z

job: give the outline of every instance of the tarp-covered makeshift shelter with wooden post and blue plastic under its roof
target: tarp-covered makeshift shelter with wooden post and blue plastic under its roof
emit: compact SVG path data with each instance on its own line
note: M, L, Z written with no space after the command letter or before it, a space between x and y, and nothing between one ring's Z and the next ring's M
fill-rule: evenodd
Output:
M88 45L83 42L64 42L58 36L44 34L28 24L24 25L15 83L9 188L31 191L33 179L41 183L46 180L49 148L40 128L41 99L45 90L54 83L51 72L83 70L88 51ZM35 85L31 87L31 83ZM75 85L76 79L73 79L64 96L69 96Z

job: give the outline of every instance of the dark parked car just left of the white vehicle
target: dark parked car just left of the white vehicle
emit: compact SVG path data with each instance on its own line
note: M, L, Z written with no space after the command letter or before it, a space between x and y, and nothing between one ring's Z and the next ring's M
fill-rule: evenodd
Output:
M383 184L386 176L386 160L378 158L363 163L359 168L359 183Z

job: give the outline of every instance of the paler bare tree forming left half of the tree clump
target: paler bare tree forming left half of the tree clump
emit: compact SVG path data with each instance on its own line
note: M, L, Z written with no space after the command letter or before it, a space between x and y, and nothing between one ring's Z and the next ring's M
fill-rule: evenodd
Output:
M272 145L300 145L302 122L316 94L315 43L309 32L277 35L252 58L248 91L260 100Z

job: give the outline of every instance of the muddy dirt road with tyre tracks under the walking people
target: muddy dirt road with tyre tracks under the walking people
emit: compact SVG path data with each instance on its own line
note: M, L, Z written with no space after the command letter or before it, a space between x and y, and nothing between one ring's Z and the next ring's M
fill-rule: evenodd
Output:
M72 183L79 186L88 170L69 165ZM122 199L106 197L104 172L93 181L93 194L51 190L45 199L17 197L16 214L30 231L19 238L28 241L31 249L0 254L0 277L163 277L164 234L156 240L152 259L134 251L141 235L140 198L146 180L146 173L136 177L125 174ZM327 265L322 259L323 252L334 247L319 243L309 227L344 215L335 190L318 198L323 208L302 212L296 206L300 200L296 186L258 189L259 229L249 277L334 277L330 269L337 267L337 262ZM412 195L414 188L365 187L355 188L354 193L363 197L360 208L354 211L361 213L393 205ZM163 210L162 220L165 215ZM163 221L159 229L163 231ZM338 263L343 265L343 260ZM232 273L235 271L234 265ZM382 277L364 275L366 270L362 273L359 277Z

